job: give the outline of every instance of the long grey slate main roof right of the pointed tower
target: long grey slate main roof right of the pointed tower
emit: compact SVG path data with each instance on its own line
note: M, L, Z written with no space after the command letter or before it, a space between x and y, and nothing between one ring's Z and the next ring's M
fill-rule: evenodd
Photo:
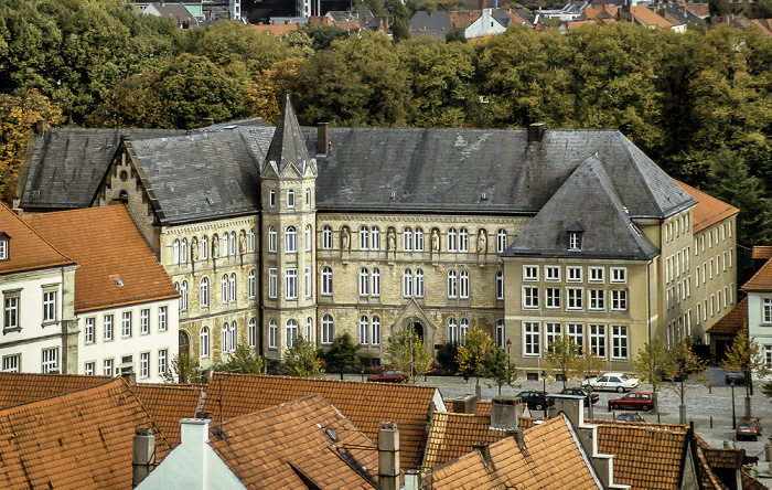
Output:
M331 128L326 156L315 142L307 134L320 211L535 214L596 155L633 217L695 203L615 130L547 130L528 143L525 130Z

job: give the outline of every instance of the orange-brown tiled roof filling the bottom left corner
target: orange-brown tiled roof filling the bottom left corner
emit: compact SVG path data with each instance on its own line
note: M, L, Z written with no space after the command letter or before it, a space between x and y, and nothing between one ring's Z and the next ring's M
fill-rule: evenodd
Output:
M4 408L0 411L0 488L131 488L137 427L157 428L120 377ZM170 449L158 433L158 460Z

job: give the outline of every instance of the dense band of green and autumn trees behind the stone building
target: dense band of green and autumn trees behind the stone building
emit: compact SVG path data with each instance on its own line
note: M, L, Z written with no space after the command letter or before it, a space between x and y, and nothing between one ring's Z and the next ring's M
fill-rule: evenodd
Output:
M740 207L740 246L772 243L772 39L758 30L513 26L464 43L307 26L281 39L224 21L181 31L115 0L0 1L7 199L39 117L272 121L286 93L304 125L619 128L673 177Z

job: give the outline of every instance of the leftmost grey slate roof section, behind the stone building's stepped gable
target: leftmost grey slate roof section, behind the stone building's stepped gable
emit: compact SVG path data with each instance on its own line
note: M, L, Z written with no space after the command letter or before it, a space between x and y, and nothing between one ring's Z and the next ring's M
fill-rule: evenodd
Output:
M34 139L29 167L22 167L20 207L72 210L87 207L120 141L184 135L173 129L52 128Z

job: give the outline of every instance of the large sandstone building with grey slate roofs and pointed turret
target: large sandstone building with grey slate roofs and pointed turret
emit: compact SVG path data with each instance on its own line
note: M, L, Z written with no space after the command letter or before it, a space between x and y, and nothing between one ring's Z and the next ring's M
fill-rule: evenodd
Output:
M313 130L289 104L276 128L41 126L17 194L28 212L126 202L202 365L344 331L376 363L396 329L435 353L478 322L529 373L557 332L620 369L654 335L704 341L699 200L615 130Z

